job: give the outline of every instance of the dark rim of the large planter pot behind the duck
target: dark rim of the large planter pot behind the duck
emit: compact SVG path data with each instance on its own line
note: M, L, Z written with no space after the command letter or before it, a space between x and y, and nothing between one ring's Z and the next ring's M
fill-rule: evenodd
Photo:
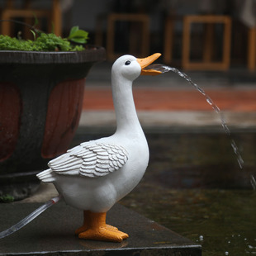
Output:
M0 64L78 64L105 59L106 50L97 46L82 51L0 50Z

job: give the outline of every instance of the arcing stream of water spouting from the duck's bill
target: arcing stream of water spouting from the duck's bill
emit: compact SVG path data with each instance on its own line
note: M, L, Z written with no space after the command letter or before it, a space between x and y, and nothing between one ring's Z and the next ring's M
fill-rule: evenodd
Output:
M185 78L188 83L192 84L192 86L193 86L194 88L196 88L197 91L200 92L201 95L203 95L203 97L205 97L206 102L207 102L207 103L212 107L212 109L213 109L214 111L216 111L216 113L220 116L221 125L222 125L223 129L225 130L226 135L231 136L230 128L227 126L226 121L225 121L225 118L224 118L222 112L220 111L220 108L216 105L215 102L213 102L213 101L211 100L211 97L209 97L209 95L207 95L206 92L205 92L202 88L200 88L200 87L197 85L197 83L194 83L194 82L192 81L192 79L187 76L186 73L183 73L183 72L181 72L181 71L178 70L178 69L175 69L175 68L172 68L172 67L163 65L163 64L151 64L151 65L149 65L149 66L147 67L147 69L159 70L159 71L161 71L162 73L166 73L166 72L172 71L172 72L174 72L174 73L177 73L180 77ZM235 153L235 155L236 155L236 159L237 159L237 162L238 162L238 164L239 164L239 168L240 168L240 169L243 169L243 168L244 168L244 160L243 160L243 158L242 158L242 156L241 156L241 154L240 154L240 152L239 152L239 148L238 148L238 146L236 145L235 140L233 140L232 138L231 138L230 145L232 146L232 148L233 148L233 150L234 150L234 153ZM250 182L251 182L252 187L254 188L254 190L256 190L256 180L255 180L255 178L254 178L253 175L251 175L251 177L250 177Z

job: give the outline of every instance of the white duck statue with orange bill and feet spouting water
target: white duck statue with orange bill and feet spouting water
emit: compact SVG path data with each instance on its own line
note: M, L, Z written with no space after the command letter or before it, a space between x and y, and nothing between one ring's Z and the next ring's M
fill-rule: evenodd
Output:
M69 149L37 175L42 182L54 183L67 204L83 210L83 225L75 231L81 239L121 242L128 238L106 224L106 213L140 182L148 166L149 148L135 111L132 83L140 74L161 73L145 69L159 56L116 59L111 69L115 134Z

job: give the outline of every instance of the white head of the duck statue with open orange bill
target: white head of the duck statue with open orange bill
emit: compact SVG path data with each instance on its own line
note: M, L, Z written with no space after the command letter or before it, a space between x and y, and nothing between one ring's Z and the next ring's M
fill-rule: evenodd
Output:
M146 57L144 59L137 59L132 55L123 55L116 59L112 66L113 75L121 75L130 81L138 78L140 74L142 75L157 75L162 72L154 69L145 69L152 64L155 59L158 59L161 54L154 54Z

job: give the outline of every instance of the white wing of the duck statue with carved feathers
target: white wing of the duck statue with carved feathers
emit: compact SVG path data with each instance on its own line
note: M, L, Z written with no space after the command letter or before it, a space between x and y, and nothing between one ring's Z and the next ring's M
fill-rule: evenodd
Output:
M97 178L122 168L127 159L120 145L86 142L51 160L49 167L58 174Z

